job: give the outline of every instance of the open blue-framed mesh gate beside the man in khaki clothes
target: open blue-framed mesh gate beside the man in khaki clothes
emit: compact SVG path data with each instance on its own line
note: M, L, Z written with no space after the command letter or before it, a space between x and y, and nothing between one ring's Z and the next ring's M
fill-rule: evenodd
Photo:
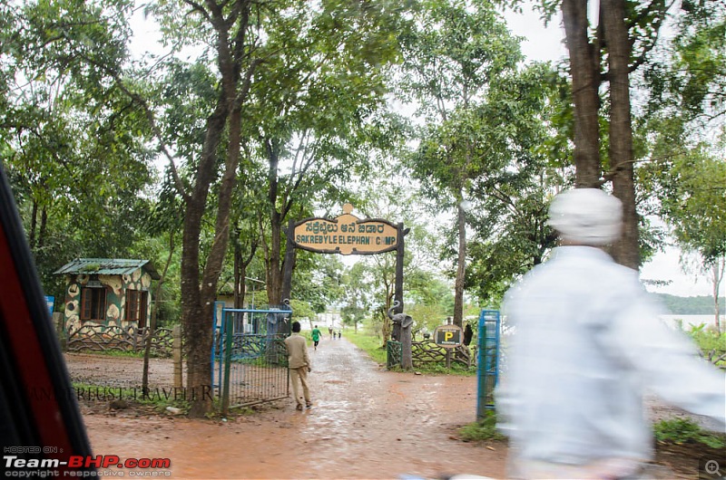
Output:
M284 341L289 336L292 311L215 306L211 376L222 413L288 397Z

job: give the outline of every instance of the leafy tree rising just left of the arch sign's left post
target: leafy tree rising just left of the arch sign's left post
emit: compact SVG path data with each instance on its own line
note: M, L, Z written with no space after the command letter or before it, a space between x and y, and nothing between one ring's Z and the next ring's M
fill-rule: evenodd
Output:
M255 137L267 163L268 241L263 244L270 304L281 299L285 269L283 228L290 210L309 212L344 197L348 180L371 171L385 73L397 59L401 5L373 7L328 0L299 2L270 30L270 45L285 55L260 66ZM297 32L295 35L290 32ZM288 265L289 267L289 265Z

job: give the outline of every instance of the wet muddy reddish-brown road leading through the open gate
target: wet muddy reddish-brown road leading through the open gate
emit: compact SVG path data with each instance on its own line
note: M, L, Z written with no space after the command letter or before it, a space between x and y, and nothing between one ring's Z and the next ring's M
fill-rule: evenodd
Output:
M310 355L315 406L303 412L289 398L227 421L190 420L83 400L93 453L170 458L172 478L505 478L505 444L456 438L458 427L476 419L475 377L388 372L345 339L321 341ZM66 360L74 381L141 384L140 359ZM172 385L171 362L152 360L150 378Z

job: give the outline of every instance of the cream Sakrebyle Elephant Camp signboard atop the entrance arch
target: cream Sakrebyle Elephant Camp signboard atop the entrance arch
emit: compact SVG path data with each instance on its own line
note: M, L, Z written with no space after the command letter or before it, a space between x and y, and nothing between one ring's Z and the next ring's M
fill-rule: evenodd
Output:
M353 206L343 206L335 218L306 218L295 224L292 235L297 248L321 254L382 254L396 250L398 228L387 220L361 220L352 215Z

